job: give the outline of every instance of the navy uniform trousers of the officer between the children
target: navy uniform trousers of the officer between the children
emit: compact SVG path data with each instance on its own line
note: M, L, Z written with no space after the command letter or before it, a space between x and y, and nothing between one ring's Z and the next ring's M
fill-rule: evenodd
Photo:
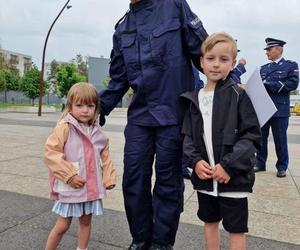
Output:
M175 242L183 209L180 131L181 126L126 126L123 195L134 242ZM156 180L151 194L154 156Z

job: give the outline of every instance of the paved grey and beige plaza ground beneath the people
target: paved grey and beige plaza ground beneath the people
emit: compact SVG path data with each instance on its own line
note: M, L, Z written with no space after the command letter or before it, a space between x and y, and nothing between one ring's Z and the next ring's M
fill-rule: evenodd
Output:
M38 117L33 113L0 112L0 250L44 249L55 215L48 199L43 145L58 117L58 113ZM104 127L118 184L104 200L104 215L93 218L89 249L126 249L131 241L121 190L125 123L125 111L116 110ZM247 249L300 249L300 117L291 117L288 134L287 177L275 176L272 138L267 171L256 175L254 192L249 197ZM189 181L185 184L184 212L174 249L204 249L203 223L196 216L196 193ZM76 249L76 229L74 220L59 249ZM227 249L227 233L222 230L221 235L222 249Z

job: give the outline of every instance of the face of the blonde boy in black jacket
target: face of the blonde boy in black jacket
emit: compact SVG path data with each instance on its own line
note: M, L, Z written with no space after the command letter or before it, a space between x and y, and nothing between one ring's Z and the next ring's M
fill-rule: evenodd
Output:
M219 42L200 58L200 63L207 80L217 82L228 76L236 60L233 59L229 45Z

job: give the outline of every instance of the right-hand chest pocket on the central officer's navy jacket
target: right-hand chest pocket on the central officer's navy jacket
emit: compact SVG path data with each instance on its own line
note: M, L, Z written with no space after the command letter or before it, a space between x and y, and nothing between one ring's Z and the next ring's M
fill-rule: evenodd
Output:
M150 44L154 58L179 55L182 50L179 19L169 19L155 28L150 37Z

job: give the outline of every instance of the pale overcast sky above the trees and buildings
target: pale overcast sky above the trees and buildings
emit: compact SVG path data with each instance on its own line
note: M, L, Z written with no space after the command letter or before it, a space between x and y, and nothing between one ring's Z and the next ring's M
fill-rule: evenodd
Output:
M161 0L163 1L163 0ZM0 46L32 56L40 68L51 23L67 0L0 0ZM187 0L209 34L225 31L238 42L238 58L247 60L246 82L256 67L267 63L265 38L287 42L284 57L300 63L299 0ZM46 62L69 61L77 54L109 57L115 23L129 0L71 0L55 23Z

